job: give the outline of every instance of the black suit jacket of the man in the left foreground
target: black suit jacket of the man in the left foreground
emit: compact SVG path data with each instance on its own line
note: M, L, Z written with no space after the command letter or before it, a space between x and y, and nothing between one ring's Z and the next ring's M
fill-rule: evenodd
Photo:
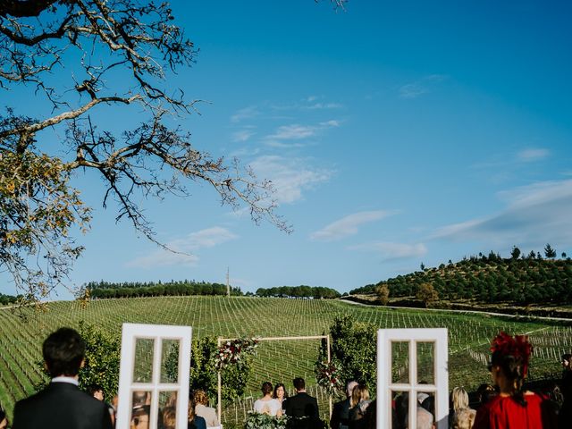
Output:
M113 429L105 403L71 383L50 383L14 407L13 429Z

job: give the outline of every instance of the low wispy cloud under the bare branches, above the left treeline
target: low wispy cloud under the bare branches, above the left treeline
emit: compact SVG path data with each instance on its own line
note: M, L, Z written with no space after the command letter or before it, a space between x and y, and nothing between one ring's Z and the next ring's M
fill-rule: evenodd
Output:
M157 266L169 265L197 265L198 256L196 253L202 248L214 248L229 240L238 239L238 235L226 228L215 226L197 232L191 232L180 239L171 240L166 243L168 248L175 252L169 252L163 248L157 249L144 257L137 257L127 263L130 267L154 268Z

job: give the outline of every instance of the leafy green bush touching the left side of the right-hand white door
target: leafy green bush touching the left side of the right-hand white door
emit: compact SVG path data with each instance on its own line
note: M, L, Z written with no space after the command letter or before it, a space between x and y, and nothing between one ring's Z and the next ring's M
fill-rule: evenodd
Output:
M332 362L341 367L343 384L356 380L373 390L376 380L373 324L356 322L351 315L336 316L330 326Z

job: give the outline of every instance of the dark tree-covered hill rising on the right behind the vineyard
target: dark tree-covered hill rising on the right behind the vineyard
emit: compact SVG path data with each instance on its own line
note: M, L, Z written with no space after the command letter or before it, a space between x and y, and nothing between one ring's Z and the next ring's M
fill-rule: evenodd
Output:
M439 299L473 299L515 305L572 303L572 260L566 254L560 259L555 256L543 258L534 252L519 257L520 251L516 250L513 249L510 258L491 252L488 256L479 254L438 267L422 266L422 271L368 284L349 294L374 293L378 286L385 285L391 299L413 297L422 284L428 283Z

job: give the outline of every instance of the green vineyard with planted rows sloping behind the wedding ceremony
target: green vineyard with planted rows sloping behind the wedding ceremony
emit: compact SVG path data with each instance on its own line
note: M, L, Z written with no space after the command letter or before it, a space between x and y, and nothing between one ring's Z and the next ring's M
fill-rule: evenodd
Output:
M532 378L558 374L560 354L572 349L572 328L562 324L520 322L490 315L362 307L326 299L101 299L89 302L87 307L82 307L80 302L54 302L43 312L26 311L29 311L28 317L22 318L8 308L0 310L0 403L9 414L14 402L32 393L43 376L38 362L41 342L46 335L63 325L77 328L81 321L118 337L123 322L190 325L194 338L320 335L328 331L336 315L353 315L359 322L380 328L446 327L449 329L450 386L463 385L467 389L488 382L488 347L491 338L501 330L529 333L534 344ZM295 376L303 376L325 403L324 394L312 386L318 346L319 341L261 343L248 384L250 393L240 403L227 408L223 421L242 418L253 398L259 396L260 384L266 380L289 385Z

